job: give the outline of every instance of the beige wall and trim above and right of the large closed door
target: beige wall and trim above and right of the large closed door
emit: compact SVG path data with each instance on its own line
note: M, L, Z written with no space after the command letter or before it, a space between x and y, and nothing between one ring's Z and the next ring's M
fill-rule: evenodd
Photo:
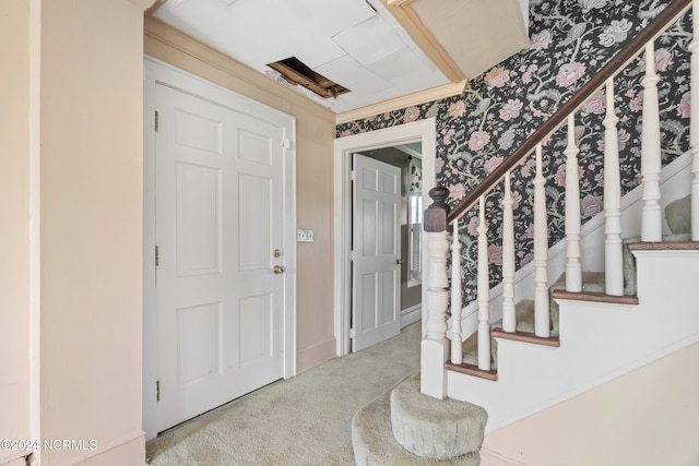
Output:
M297 225L315 230L315 242L297 249L298 370L332 358L334 113L152 19L145 23L144 51L296 118Z

